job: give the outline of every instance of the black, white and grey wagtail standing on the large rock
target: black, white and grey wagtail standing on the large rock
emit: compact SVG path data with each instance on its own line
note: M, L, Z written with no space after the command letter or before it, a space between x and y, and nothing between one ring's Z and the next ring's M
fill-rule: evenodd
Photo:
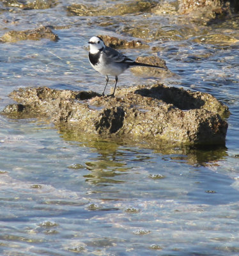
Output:
M102 38L93 36L89 39L89 62L91 66L100 74L105 75L106 84L109 82L108 76L114 76L116 83L114 84L114 92L116 90L116 84L118 82L118 76L123 73L127 68L132 66L143 66L152 68L164 68L155 65L148 65L144 63L135 62L120 52L107 47L104 44ZM105 88L102 93L104 96ZM114 92L109 96L114 96Z

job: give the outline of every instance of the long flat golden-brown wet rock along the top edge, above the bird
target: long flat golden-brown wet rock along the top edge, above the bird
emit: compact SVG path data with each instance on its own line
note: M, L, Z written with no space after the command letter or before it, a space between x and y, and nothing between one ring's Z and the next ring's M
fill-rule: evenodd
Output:
M114 4L114 6L96 6L90 4L72 4L67 7L68 12L79 16L116 16L128 13L149 12L155 7L155 1L128 1L125 3Z

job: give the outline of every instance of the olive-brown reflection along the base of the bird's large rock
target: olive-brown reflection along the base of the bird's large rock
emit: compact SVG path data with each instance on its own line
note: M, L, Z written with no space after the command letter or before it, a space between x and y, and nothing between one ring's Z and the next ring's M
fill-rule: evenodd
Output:
M217 164L219 160L227 156L226 147L172 147L162 143L139 143L138 141L116 139L92 138L87 134L77 134L73 131L61 132L62 137L67 141L79 141L82 146L91 148L92 152L97 152L96 163L86 163L88 170L116 170L127 171L126 164L122 161L139 161L150 163L152 152L162 154L164 161L178 161L188 163L192 166L210 166ZM130 146L130 147L128 147ZM137 149L136 149L137 147ZM135 149L134 149L135 148ZM141 148L141 150L139 150ZM148 152L146 148L150 149ZM126 151L125 151L126 150ZM153 151L151 151L153 150ZM107 174L105 174L107 175Z

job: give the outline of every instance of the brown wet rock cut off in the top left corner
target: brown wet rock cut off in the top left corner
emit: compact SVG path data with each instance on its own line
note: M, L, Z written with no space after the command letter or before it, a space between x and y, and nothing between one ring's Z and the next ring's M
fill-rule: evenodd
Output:
M56 6L57 0L35 0L35 1L26 1L26 0L4 0L3 4L7 7L17 7L23 10L31 9L48 9Z

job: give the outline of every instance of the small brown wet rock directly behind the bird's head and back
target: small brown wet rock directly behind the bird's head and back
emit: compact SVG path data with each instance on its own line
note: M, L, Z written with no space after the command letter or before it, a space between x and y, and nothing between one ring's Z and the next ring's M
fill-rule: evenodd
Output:
M107 35L98 35L103 39L105 45L112 48L145 48L149 47L147 44L141 42L141 40L132 40L127 41L124 39L120 39L115 36L107 36Z

